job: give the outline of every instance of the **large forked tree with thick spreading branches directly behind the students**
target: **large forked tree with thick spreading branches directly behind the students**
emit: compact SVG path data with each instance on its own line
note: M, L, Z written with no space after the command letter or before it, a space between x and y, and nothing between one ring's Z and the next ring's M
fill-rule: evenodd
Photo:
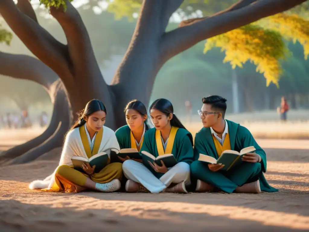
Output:
M185 21L180 28L166 31L180 0L145 0L129 48L112 85L102 78L87 30L78 11L69 1L42 1L59 22L67 45L53 38L30 14L28 0L19 0L20 11L12 0L0 2L0 13L23 43L63 81L76 117L87 101L97 98L108 111L107 125L116 129L125 124L125 104L137 98L148 105L155 76L163 64L199 41L242 27L258 19L286 11L304 0L243 0L210 17ZM116 1L115 1L116 2ZM54 7L55 4L59 8ZM66 11L63 10L66 4Z

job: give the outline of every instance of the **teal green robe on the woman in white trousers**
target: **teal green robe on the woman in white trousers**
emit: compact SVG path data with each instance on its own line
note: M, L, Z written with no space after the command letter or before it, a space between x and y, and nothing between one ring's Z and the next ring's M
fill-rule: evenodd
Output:
M149 129L145 132L144 142L140 152L146 151L155 157L158 157L157 143L155 140L155 128ZM176 132L173 149L171 152L176 160L179 162L185 162L190 165L194 161L193 152L193 138L189 131L179 128ZM157 173L148 163L144 165L157 177L163 176L162 173Z

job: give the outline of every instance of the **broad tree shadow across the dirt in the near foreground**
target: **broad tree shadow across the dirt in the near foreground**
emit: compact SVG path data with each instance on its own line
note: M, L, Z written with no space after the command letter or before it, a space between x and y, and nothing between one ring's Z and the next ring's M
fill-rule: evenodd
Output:
M211 216L208 213L182 213L169 210L116 212L113 209L75 207L50 208L51 204L25 204L0 201L0 226L3 231L291 231L283 226L263 225L247 219ZM295 230L296 231L296 230ZM299 231L299 230L298 230Z

